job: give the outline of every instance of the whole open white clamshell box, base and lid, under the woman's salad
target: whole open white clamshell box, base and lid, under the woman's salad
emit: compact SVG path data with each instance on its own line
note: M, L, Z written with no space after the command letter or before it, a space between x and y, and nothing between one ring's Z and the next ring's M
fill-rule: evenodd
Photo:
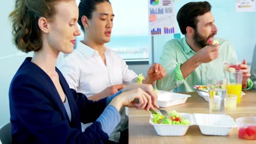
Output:
M160 136L183 136L187 133L190 125L199 125L200 131L204 135L226 136L232 128L236 127L234 119L229 115L208 114L208 113L179 113L187 118L191 123L181 124L156 124L153 123L153 115L150 115L149 123L153 125L155 131Z

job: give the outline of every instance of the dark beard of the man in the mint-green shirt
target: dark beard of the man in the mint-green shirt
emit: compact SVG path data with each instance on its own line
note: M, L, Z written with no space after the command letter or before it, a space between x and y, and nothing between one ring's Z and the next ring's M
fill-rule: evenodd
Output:
M195 29L195 34L194 34L193 39L194 39L195 44L197 46L199 46L200 48L202 48L202 47L205 47L207 45L208 39L213 37L216 34L217 34L217 32L214 32L211 35L209 35L208 37L203 37L201 34L199 34L197 29Z

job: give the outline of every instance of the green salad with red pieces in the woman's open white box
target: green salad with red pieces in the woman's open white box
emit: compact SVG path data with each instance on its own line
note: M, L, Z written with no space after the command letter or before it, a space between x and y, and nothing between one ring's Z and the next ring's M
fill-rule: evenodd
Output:
M168 112L168 116L166 117L162 116L161 113L153 114L152 122L158 123L158 124L183 124L183 125L190 124L188 119L183 118L175 110Z

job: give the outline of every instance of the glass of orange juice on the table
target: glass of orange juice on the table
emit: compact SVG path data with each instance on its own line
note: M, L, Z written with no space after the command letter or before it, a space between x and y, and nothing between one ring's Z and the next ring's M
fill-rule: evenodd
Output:
M241 103L241 94L242 94L242 79L243 79L243 72L236 70L236 71L225 71L225 77L228 79L228 94L236 94L237 99L236 103Z

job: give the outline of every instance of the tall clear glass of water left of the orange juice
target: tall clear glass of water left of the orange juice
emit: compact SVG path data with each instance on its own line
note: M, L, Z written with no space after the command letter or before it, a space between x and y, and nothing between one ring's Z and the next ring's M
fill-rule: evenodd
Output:
M225 114L227 79L207 79L210 113Z

